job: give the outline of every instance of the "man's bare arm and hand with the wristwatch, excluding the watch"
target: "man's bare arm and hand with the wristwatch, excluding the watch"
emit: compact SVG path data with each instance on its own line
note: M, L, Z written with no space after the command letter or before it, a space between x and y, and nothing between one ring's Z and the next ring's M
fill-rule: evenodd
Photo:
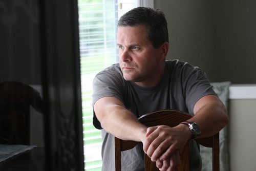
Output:
M195 116L188 121L196 122L200 126L199 137L208 137L218 133L229 121L225 106L215 95L206 95L199 99L194 106L194 113ZM185 124L179 124L176 127L161 125L147 136L143 146L144 151L153 161L165 160L191 137L189 127ZM166 149L165 153L163 149Z

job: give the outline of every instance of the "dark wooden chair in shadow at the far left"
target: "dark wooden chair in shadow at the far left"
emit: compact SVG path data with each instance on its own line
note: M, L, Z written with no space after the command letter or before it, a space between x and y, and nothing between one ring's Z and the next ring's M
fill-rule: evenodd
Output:
M16 81L0 83L0 143L29 145L30 105L42 113L42 99L32 87Z

